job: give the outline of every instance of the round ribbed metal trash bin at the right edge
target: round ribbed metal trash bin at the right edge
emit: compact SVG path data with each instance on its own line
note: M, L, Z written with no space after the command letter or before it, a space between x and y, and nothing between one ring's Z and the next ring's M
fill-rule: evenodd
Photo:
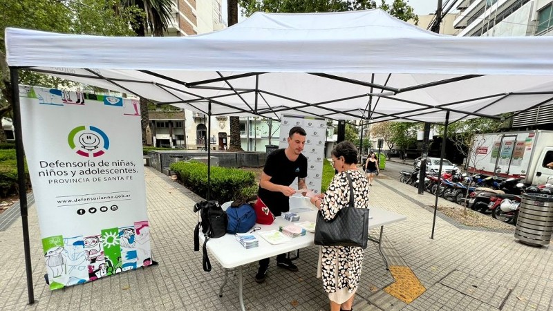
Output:
M553 233L553 196L523 194L514 237L528 245L549 245Z

